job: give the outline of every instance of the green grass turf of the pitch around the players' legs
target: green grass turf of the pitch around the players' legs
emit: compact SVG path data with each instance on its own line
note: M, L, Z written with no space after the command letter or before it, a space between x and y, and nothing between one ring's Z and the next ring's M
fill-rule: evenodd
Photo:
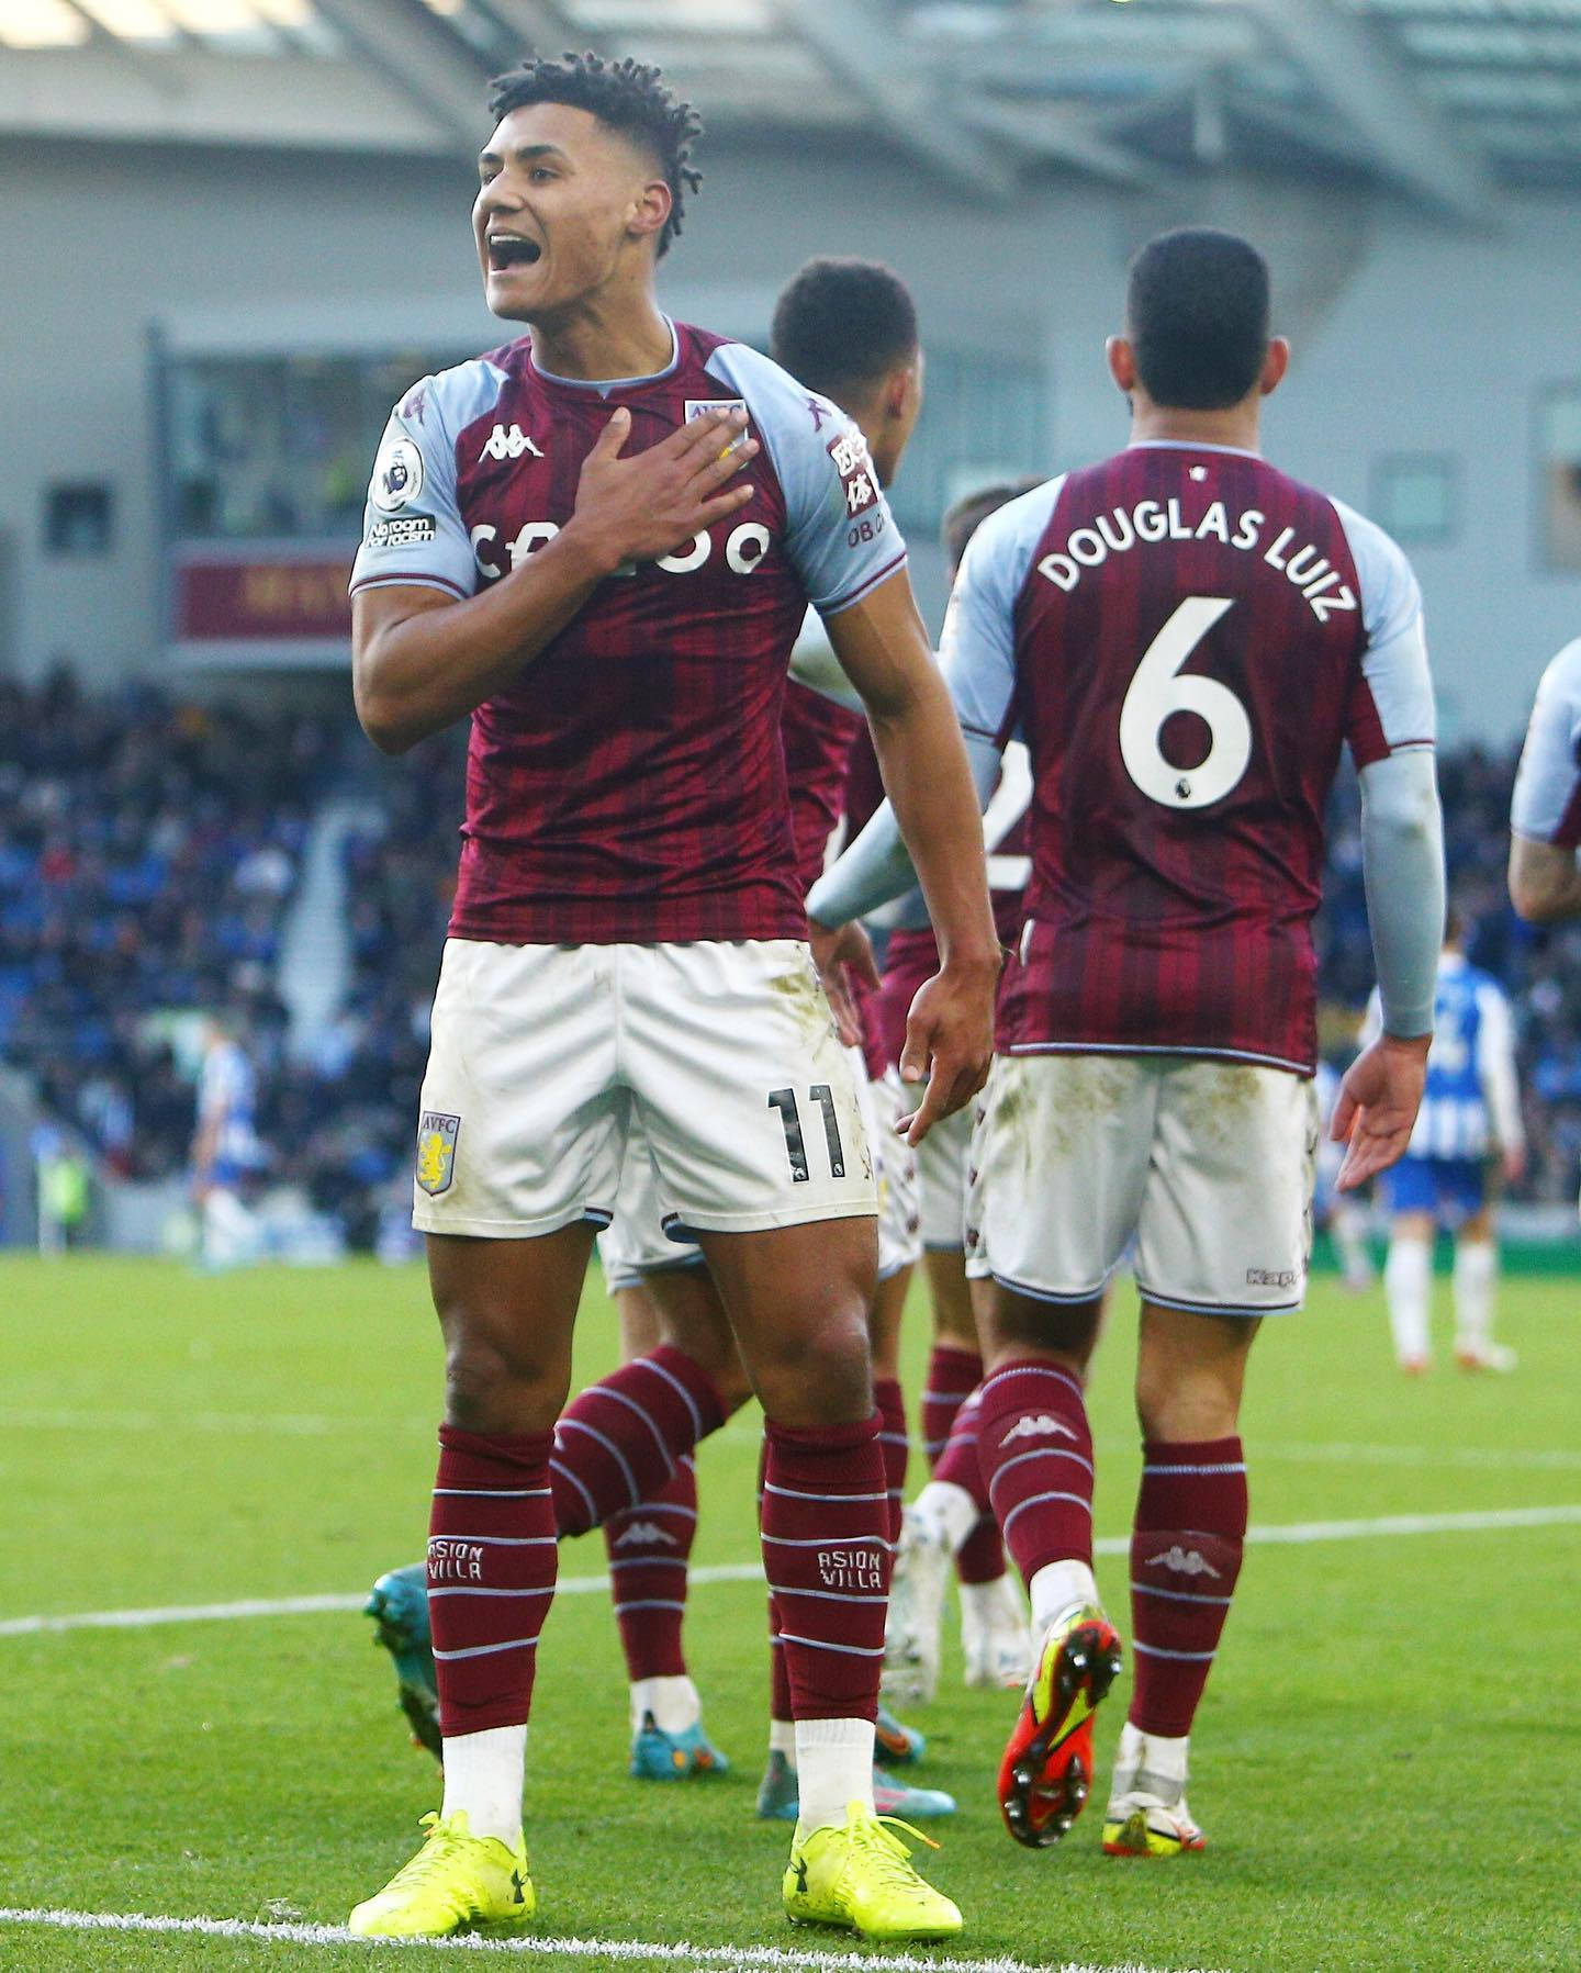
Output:
M1253 1519L1581 1501L1579 1292L1506 1286L1516 1377L1403 1383L1378 1296L1318 1282L1307 1316L1257 1344ZM418 1271L205 1280L4 1261L0 1308L0 1616L349 1594L420 1553L438 1350ZM918 1306L912 1389L924 1330ZM590 1290L580 1367L610 1355ZM1129 1359L1121 1316L1093 1381L1101 1535L1125 1531L1137 1476ZM746 1421L703 1450L697 1561L754 1559L754 1462ZM1174 1864L1105 1861L1092 1813L1056 1851L1015 1849L993 1803L1015 1703L963 1693L951 1659L920 1724L926 1780L963 1803L934 1861L967 1914L959 1951L1269 1973L1581 1965L1577 1551L1573 1525L1251 1549L1196 1734L1192 1807L1212 1847ZM596 1572L598 1539L561 1567ZM1123 1563L1099 1578L1123 1612ZM839 1947L786 1930L786 1831L752 1819L762 1592L699 1586L693 1610L693 1667L736 1770L685 1788L624 1778L604 1598L553 1614L529 1770L541 1930ZM0 1906L339 1924L436 1805L432 1762L349 1614L0 1638ZM1123 1697L1101 1756L1121 1715ZM377 1951L0 1926L4 1969Z

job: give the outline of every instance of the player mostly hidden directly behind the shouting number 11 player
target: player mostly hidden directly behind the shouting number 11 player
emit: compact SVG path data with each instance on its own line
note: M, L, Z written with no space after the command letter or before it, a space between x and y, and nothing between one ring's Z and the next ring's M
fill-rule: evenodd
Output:
M886 487L916 424L922 395L922 349L906 284L872 260L809 260L776 304L770 355L786 369L793 367L801 383L855 420L868 442L878 483ZM799 683L799 675L815 679L817 689ZM795 882L801 892L823 870L825 846L841 813L847 760L853 742L866 736L866 722L857 706L861 700L839 669L821 620L809 612L791 653L791 683L782 716ZM872 771L876 781L876 764ZM882 785L866 813L872 813L878 799ZM936 967L938 953L916 985L932 977ZM870 1097L861 1056L853 1069L859 1073L859 1099ZM908 1213L914 1196L912 1150L880 1129L882 1121L865 1113L880 1188L874 1401L882 1417L888 1494L898 1513L906 1411L894 1361L896 1288L904 1296L916 1221L914 1211ZM653 1160L641 1129L634 1127L626 1142L616 1217L598 1235L604 1279L620 1312L622 1369L572 1403L557 1426L551 1458L557 1531L584 1533L592 1525L602 1525L604 1531L630 1681L630 1772L641 1780L728 1772L728 1762L703 1726L701 1697L683 1653L697 1476L691 1452L669 1438L665 1417L653 1413L655 1397L663 1395L655 1371L687 1381L709 1426L730 1417L752 1389L701 1251L695 1243L671 1239L663 1221L665 1204ZM685 1425L685 1407L675 1417ZM657 1470L655 1438L663 1438L671 1452ZM638 1476L645 1472L657 1484L638 1486ZM614 1482L614 1492L608 1482ZM379 1642L395 1659L401 1705L416 1736L438 1754L424 1576L422 1565L381 1576L367 1608L377 1622ZM772 1638L770 1754L758 1790L758 1813L795 1821L795 1722L778 1626L772 1626ZM874 1728L886 1760L908 1762L920 1754L922 1736L882 1709ZM908 1821L947 1815L955 1807L947 1793L908 1788L882 1768L874 1770L872 1790L880 1813Z

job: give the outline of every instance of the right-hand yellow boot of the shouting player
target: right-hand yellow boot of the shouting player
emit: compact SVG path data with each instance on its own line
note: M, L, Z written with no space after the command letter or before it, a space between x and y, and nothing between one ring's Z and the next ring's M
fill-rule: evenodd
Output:
M916 1874L896 1829L938 1849L920 1829L870 1815L861 1801L847 1807L843 1825L797 1833L784 1882L790 1922L843 1926L865 1939L953 1939L959 1910Z

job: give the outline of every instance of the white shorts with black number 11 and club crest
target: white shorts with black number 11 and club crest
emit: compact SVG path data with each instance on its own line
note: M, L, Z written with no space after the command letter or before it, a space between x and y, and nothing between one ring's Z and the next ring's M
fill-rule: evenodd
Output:
M446 943L413 1225L480 1239L608 1225L634 1125L665 1231L878 1209L803 941Z

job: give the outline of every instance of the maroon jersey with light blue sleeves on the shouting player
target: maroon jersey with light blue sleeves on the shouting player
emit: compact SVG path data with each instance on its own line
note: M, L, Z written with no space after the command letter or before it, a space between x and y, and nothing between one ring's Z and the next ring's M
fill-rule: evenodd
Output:
M683 324L673 339L659 375L616 383L509 343L418 383L387 426L353 594L503 580L570 519L618 404L628 456L716 404L742 404L762 446L746 507L606 578L474 712L456 937L805 937L786 665L809 604L851 608L906 550L843 412L742 343Z

